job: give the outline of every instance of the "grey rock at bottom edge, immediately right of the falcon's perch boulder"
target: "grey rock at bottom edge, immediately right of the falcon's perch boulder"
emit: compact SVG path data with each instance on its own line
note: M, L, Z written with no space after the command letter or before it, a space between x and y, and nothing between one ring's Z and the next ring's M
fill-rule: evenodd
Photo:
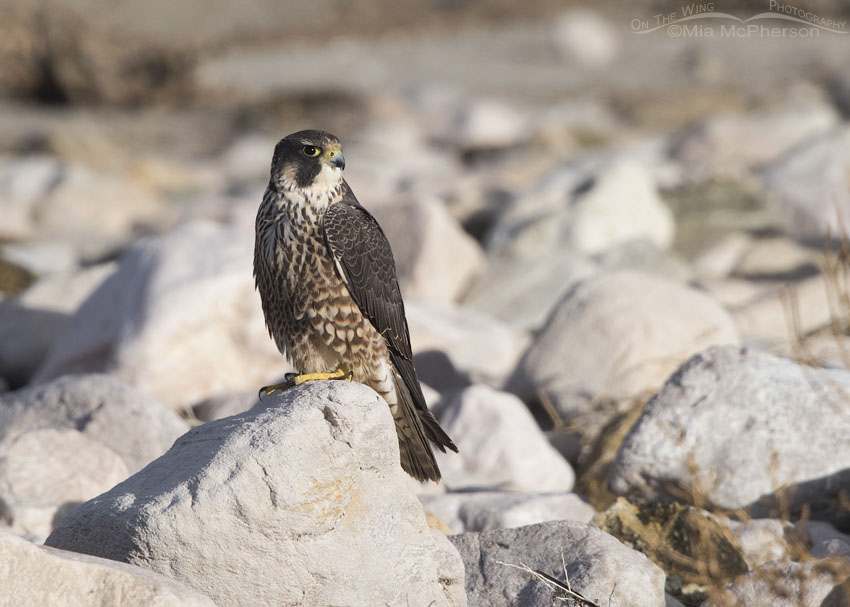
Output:
M573 591L600 606L664 604L664 572L643 554L583 523L556 521L450 539L466 565L470 607L551 607L555 597L564 597L520 565L561 582L566 567Z

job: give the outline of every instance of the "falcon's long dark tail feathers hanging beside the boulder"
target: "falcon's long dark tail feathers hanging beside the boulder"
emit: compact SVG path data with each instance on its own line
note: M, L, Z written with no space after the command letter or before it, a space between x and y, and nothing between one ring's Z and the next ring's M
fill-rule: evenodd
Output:
M395 375L395 389L398 405L394 417L401 467L416 480L439 482L440 468L434 458L431 443L436 444L444 453L446 447L454 452L457 452L457 447L440 428L434 414L425 406L424 398L422 406L417 406L406 382L398 375ZM421 390L419 392L421 394Z

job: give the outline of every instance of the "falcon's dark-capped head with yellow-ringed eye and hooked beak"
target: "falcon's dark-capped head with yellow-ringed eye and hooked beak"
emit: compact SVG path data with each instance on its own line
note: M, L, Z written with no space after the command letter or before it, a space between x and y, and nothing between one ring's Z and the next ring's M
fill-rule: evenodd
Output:
M324 131L298 131L274 148L271 183L279 191L330 190L342 183L345 157L336 136Z

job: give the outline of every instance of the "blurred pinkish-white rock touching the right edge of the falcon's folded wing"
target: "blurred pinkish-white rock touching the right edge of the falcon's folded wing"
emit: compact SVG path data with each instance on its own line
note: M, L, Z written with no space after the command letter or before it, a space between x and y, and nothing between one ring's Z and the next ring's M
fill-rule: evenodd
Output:
M439 200L370 207L392 246L406 298L458 301L484 270L484 253Z

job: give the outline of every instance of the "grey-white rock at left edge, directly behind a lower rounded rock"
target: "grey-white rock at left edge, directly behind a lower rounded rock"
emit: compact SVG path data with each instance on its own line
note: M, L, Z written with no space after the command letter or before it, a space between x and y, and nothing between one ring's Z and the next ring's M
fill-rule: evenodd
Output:
M108 375L68 375L0 397L0 439L48 428L78 430L136 472L189 426L163 403Z

